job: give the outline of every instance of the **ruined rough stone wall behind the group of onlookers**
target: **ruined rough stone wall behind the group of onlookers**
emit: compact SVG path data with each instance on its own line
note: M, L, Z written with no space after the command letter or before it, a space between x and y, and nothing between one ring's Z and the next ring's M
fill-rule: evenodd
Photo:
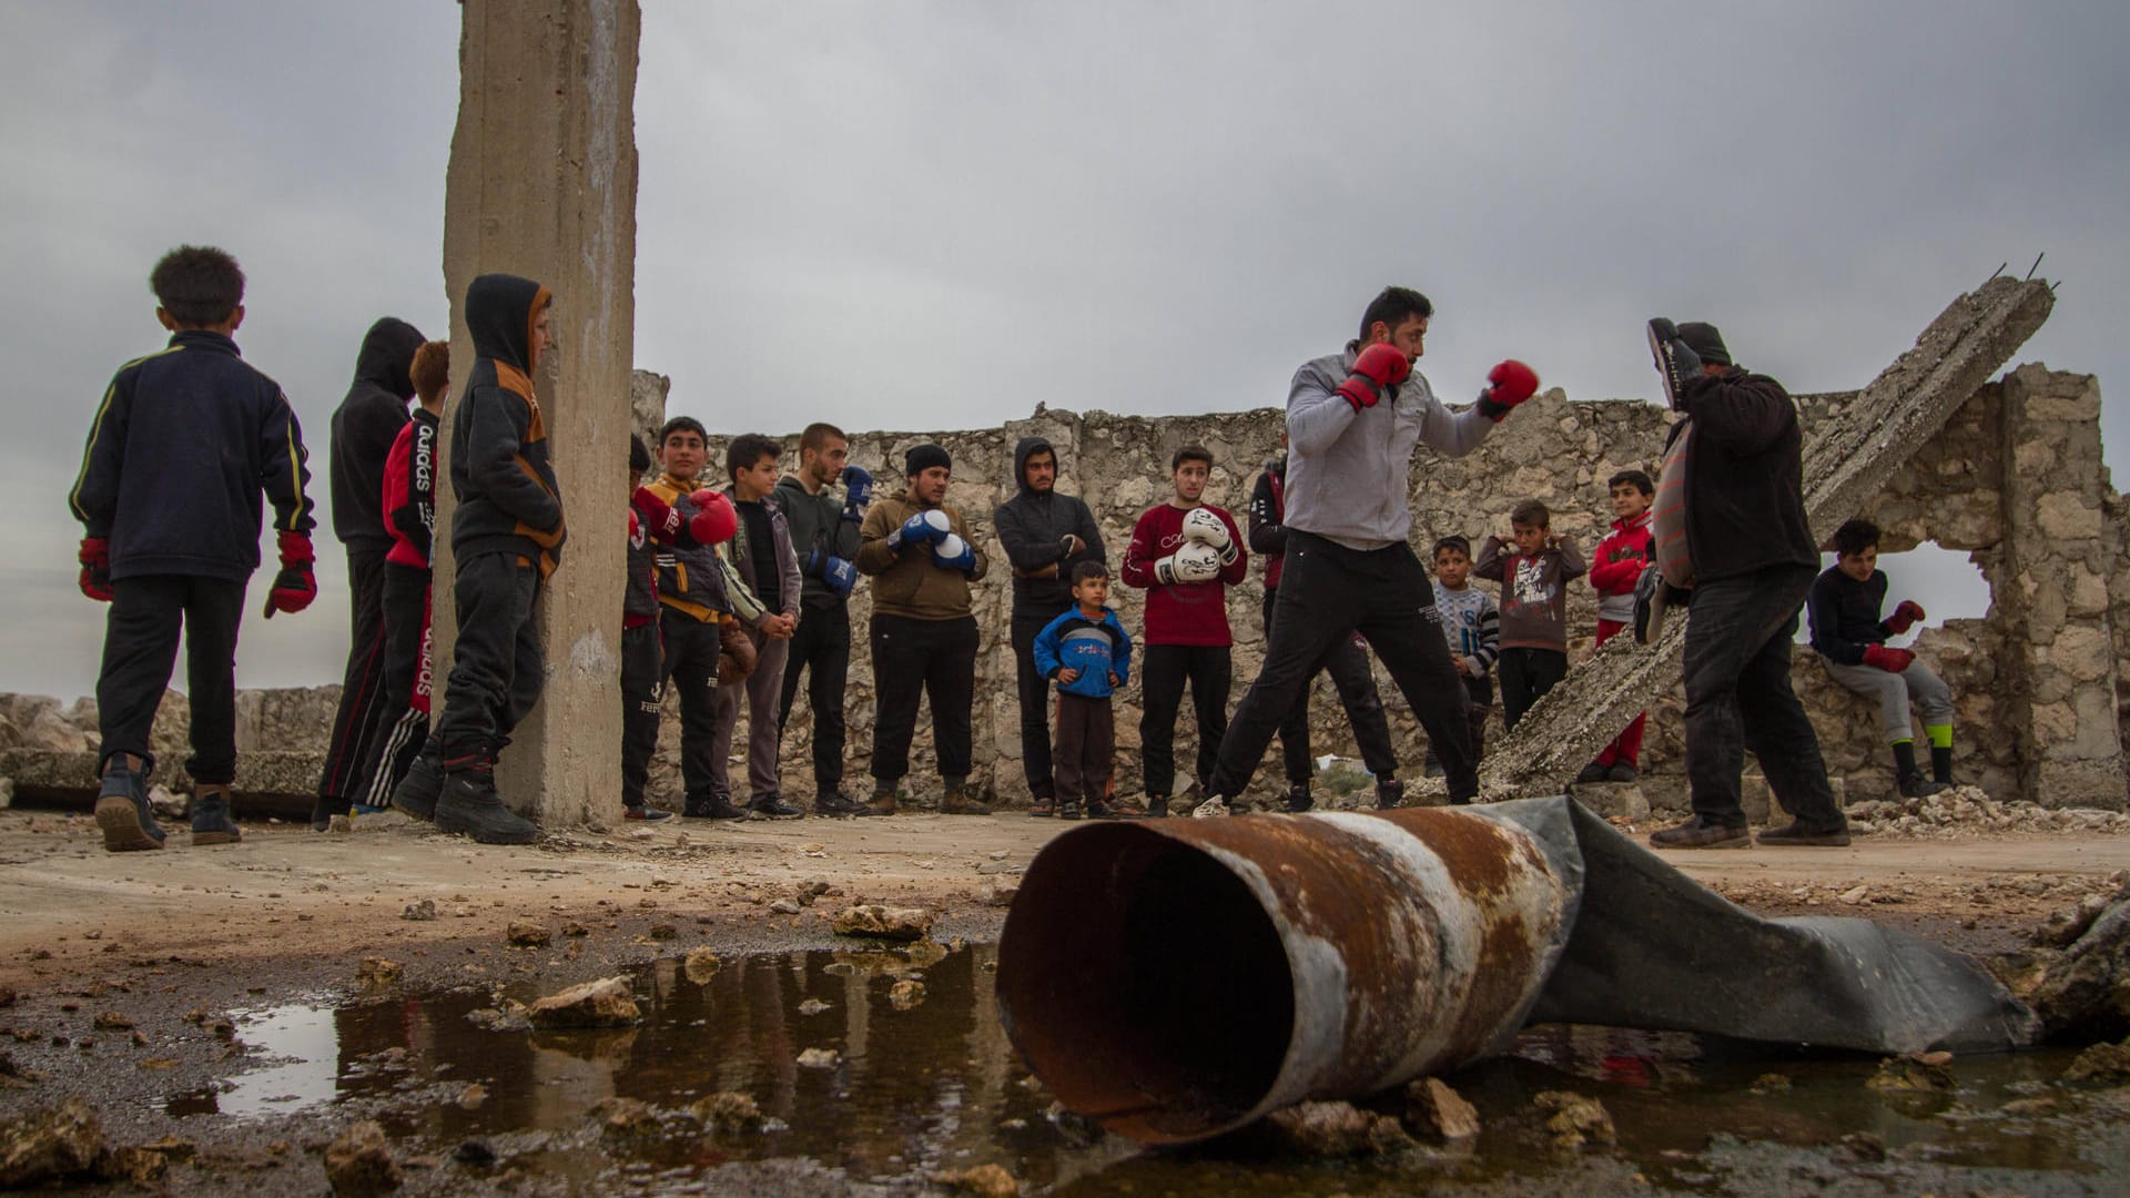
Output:
M637 373L639 426L656 426L665 379ZM1838 420L1855 392L1800 396L1806 431ZM899 480L910 446L937 439L954 454L948 501L961 507L982 544L990 546L990 512L1010 495L1012 446L1039 433L1059 446L1061 490L1086 497L1101 524L1110 561L1123 556L1131 524L1148 505L1167 497L1169 454L1189 441L1214 452L1206 499L1240 512L1250 484L1278 452L1276 409L1135 418L1103 411L1037 409L1003 428L971 433L856 433L852 460ZM1651 467L1664 441L1668 414L1640 401L1568 403L1559 390L1534 399L1504 422L1468 458L1423 452L1412 471L1414 541L1463 533L1474 541L1506 527L1519 499L1544 499L1555 529L1593 546L1608 524L1604 484L1617 469ZM794 465L797 437L786 435ZM722 450L722 443L718 446ZM714 460L718 456L714 454ZM2006 463L2013 465L2006 471ZM2100 467L2098 384L2090 375L2021 367L1977 390L1945 428L1917 452L1864 514L1885 529L1883 550L1896 554L1923 541L1968 550L1996 590L1985 618L1928 629L1919 652L1951 682L1957 703L1955 761L1998 799L2030 797L2049 806L2121 808L2126 782L2119 738L2130 721L2117 657L2130 652L2130 563L2126 563L2126 507ZM1898 569L1898 563L1889 563ZM1235 631L1235 691L1257 674L1263 657L1261 569L1229 595ZM1570 590L1572 661L1591 652L1595 597ZM1142 593L1112 590L1129 629L1142 627ZM1928 595L1923 597L1928 605ZM1018 706L1014 661L1005 644L1010 580L1001 567L976 586L976 614L984 629L978 659L976 761L978 784L1018 804ZM852 597L852 678L848 787L867 787L873 729L873 689L865 620L869 588ZM1821 735L1830 770L1849 799L1879 799L1891 791L1891 752L1879 738L1877 714L1859 697L1834 686L1819 661L1802 650L1793 680ZM1406 774L1419 774L1425 738L1406 701L1378 669L1391 727ZM241 710L243 748L322 748L332 689L247 693ZM669 699L671 703L671 699ZM1644 742L1644 793L1657 808L1685 804L1681 774L1681 706L1672 686L1651 703ZM1189 708L1186 708L1189 710ZM1137 686L1118 697L1118 793L1135 793ZM58 725L92 729L94 703L70 712L55 701L0 703L0 748L34 742L30 725L60 735ZM158 750L181 759L181 716L158 725ZM1493 723L1500 740L1500 712ZM667 721L654 767L654 795L677 799L677 718ZM741 727L743 735L743 727ZM1314 752L1357 757L1344 712L1329 680L1312 699ZM812 797L812 712L801 695L784 740L784 780L794 799ZM170 740L168 746L162 742ZM1195 733L1189 716L1178 727L1178 761L1191 759ZM1259 793L1282 789L1278 755L1267 752ZM929 721L920 721L912 780L935 789ZM735 778L743 767L735 763Z

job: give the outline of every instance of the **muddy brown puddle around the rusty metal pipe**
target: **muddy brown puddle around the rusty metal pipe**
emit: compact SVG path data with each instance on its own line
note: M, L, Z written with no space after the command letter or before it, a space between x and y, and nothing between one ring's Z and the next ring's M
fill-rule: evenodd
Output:
M503 1000L575 974L247 1010L253 1064L162 1113L179 1134L375 1117L396 1153L432 1157L430 1192L728 1192L735 1162L780 1162L758 1192L907 1189L980 1164L1052 1194L2130 1192L2130 1091L2060 1081L2068 1051L1962 1057L1951 1094L1883 1094L1874 1057L1559 1025L1446 1079L1478 1108L1472 1140L1348 1160L1261 1134L1142 1151L1056 1113L1005 1042L993 966L990 946L752 955L694 976L665 959L630 976L643 1023L620 1032L492 1025ZM1559 1147L1544 1091L1598 1098L1617 1143ZM752 1100L760 1126L718 1094ZM803 1185L794 1160L812 1162Z

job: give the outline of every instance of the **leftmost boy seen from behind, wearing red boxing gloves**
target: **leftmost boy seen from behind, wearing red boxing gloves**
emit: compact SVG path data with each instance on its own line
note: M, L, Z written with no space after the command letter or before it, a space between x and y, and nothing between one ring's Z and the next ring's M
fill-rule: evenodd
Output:
M147 808L155 770L149 725L185 631L192 699L192 842L239 840L236 622L260 565L264 490L273 499L281 571L266 616L317 597L302 428L288 396L230 339L245 320L245 273L222 249L181 245L149 275L168 350L119 367L89 424L68 497L87 533L81 593L111 603L96 678L104 848L162 848Z

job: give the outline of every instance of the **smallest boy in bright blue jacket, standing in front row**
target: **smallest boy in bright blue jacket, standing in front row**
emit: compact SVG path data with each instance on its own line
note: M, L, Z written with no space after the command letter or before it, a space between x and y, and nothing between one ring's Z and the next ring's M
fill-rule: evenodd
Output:
M1108 804L1116 721L1110 695L1131 678L1131 637L1110 603L1110 569L1099 561L1071 567L1074 605L1035 633L1035 671L1059 684L1059 729L1052 787L1059 819L1114 819Z

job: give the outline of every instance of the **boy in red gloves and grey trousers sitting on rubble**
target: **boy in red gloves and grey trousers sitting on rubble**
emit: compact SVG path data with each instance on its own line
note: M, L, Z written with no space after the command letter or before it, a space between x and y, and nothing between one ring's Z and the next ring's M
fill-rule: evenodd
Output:
M1836 529L1834 552L1836 563L1813 582L1806 597L1813 650L1836 682L1879 701L1879 721L1894 742L1900 795L1936 795L1953 784L1953 693L1913 650L1885 644L1915 627L1923 608L1915 599L1902 599L1891 616L1879 618L1887 578L1879 571L1879 527L1870 520L1849 520ZM1915 763L1911 703L1923 710L1930 778Z

